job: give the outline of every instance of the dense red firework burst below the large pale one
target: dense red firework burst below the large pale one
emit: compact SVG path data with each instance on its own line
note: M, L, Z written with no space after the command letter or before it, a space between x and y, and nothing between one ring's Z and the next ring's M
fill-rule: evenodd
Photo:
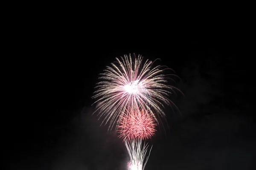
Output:
M152 114L145 110L127 111L119 119L119 137L124 140L150 139L157 124Z

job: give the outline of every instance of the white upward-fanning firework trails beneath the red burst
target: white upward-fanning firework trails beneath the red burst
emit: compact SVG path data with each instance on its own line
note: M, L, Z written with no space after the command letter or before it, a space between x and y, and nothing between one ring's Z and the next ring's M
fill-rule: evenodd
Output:
M131 144L125 140L125 146L130 156L130 161L128 162L127 166L128 170L144 170L152 147L150 148L148 156L146 157L148 144L142 143L142 139L134 139Z

